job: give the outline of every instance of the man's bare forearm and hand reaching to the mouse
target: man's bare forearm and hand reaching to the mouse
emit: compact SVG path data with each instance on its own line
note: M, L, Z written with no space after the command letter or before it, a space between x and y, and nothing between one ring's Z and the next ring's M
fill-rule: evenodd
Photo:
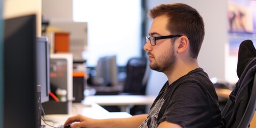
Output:
M104 127L104 128L132 128L139 127L140 124L146 119L147 114L136 115L129 118L111 118L111 119L92 119L83 115L76 115L70 117L65 122L64 126L71 124L71 127ZM78 123L74 123L78 122Z

